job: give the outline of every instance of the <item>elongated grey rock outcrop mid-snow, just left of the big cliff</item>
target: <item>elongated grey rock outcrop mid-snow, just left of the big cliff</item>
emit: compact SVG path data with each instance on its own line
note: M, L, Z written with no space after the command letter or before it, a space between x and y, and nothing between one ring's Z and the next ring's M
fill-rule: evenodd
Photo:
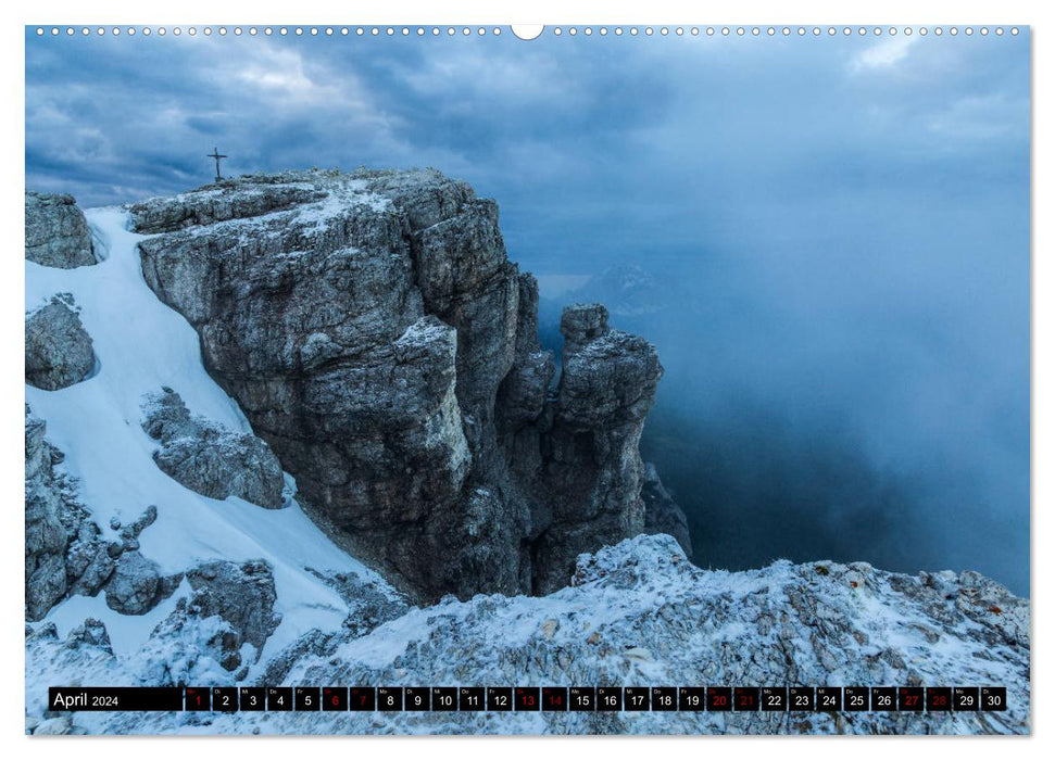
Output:
M268 509L282 506L282 468L268 445L191 416L172 389L147 398L142 428L161 443L158 467L191 491L210 498L239 496Z

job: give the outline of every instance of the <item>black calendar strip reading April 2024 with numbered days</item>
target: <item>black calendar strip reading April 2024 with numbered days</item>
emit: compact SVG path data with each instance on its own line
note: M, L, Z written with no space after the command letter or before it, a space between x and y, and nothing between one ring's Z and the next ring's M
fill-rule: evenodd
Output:
M52 686L55 711L977 712L1004 686Z

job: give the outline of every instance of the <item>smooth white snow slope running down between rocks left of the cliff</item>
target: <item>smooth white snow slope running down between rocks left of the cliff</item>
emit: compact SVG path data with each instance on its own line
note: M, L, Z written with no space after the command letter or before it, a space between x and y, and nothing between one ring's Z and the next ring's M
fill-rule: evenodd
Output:
M104 534L116 537L111 520L127 524L148 505L158 520L139 536L140 550L167 573L210 559L264 559L272 566L282 621L258 662L311 629L340 628L348 604L306 568L361 575L387 585L327 540L290 495L284 509L262 509L237 497L224 502L184 487L151 458L158 443L140 427L143 397L168 387L197 414L236 431L250 432L238 406L202 367L198 335L162 304L143 281L136 242L120 208L87 212L102 261L58 269L26 262L26 308L55 293L71 293L91 335L98 366L91 377L59 391L26 385L26 402L47 422L47 439L64 455L61 466L79 481L79 498ZM290 481L291 482L291 481ZM292 489L290 489L290 492ZM186 592L186 586L181 588ZM145 616L110 609L105 593L74 596L45 622L60 635L86 617L105 623L114 649L130 655L181 596L178 591ZM39 691L42 682L27 688ZM27 694L27 696L29 696ZM39 694L34 694L34 697Z

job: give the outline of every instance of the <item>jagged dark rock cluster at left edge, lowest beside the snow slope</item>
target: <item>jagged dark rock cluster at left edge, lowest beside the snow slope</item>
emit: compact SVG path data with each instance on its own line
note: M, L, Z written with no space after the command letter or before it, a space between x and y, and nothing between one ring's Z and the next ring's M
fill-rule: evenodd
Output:
M45 440L46 430L26 406L26 620L40 620L70 595L95 596L103 587L114 609L146 612L178 582L148 572L155 566L136 550L156 507L130 525L114 525L118 537L106 541L77 501L76 482L55 469L63 455Z

